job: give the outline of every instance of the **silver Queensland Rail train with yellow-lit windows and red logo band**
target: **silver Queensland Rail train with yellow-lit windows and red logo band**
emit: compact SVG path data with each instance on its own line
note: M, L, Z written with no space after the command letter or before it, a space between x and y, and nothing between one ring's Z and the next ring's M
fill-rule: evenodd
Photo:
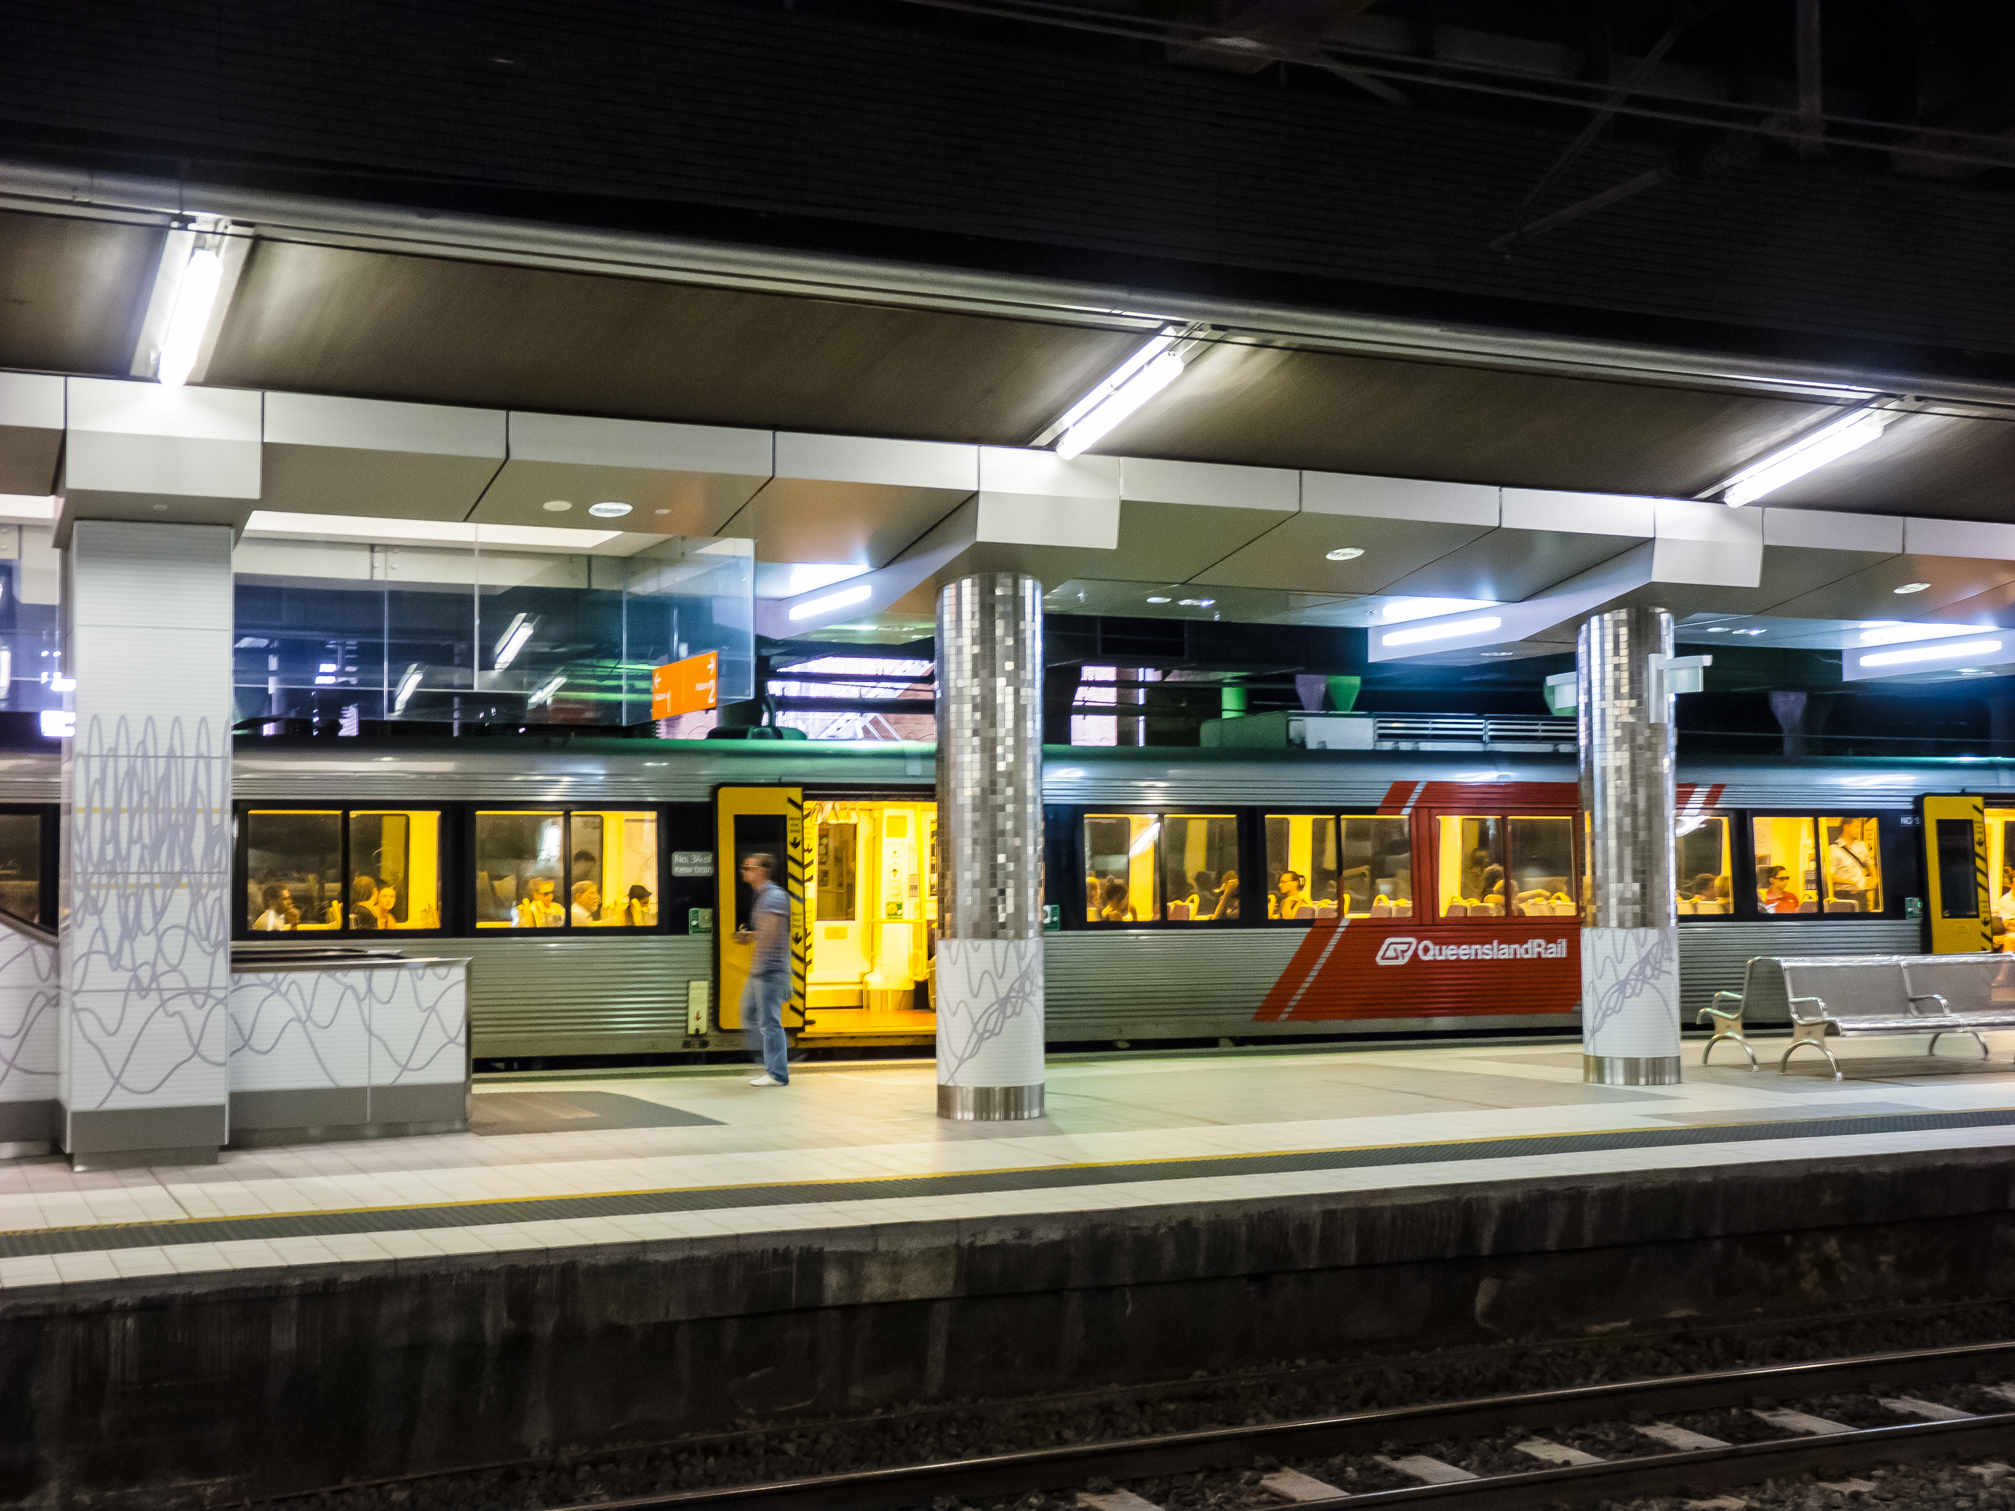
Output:
M1048 747L1048 1042L1576 1032L1576 776L1560 749ZM0 758L44 846L0 868L34 866L42 909L54 784ZM1687 1021L1755 955L1997 947L2015 913L2015 762L1683 760L1676 792ZM1949 800L1999 884L1955 880ZM740 1048L752 852L790 882L796 1042L933 1044L931 745L250 735L234 816L244 951L465 957L482 1062Z

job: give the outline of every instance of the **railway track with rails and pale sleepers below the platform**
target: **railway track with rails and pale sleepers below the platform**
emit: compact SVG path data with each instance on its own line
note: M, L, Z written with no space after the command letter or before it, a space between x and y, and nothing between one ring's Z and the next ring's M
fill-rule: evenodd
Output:
M1350 1511L1378 1505L1509 1511L1713 1493L1814 1471L1852 1481L1856 1471L1880 1463L2015 1455L2015 1384L2001 1380L2009 1372L2015 1372L2015 1342L1969 1344L592 1505L598 1511L901 1511L933 1501L985 1503L1042 1491L1086 1511L1161 1511L1201 1503L1201 1493L1213 1487L1219 1493L1245 1487L1243 1499L1253 1507L1348 1503ZM1840 1420L1844 1416L1852 1420Z

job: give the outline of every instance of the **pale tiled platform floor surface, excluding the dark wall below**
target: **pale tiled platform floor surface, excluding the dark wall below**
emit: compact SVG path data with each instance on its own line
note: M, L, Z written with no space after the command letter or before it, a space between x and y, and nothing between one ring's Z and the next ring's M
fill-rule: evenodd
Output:
M1642 1090L1584 1086L1578 1044L1060 1060L1050 1114L1022 1124L939 1122L927 1062L780 1090L748 1070L492 1082L478 1096L560 1110L596 1092L604 1116L214 1166L0 1164L0 1287L2015 1144L2015 1036L1991 1044L1856 1040L1838 1084L1818 1056L1701 1070L1689 1044L1685 1084ZM653 1116L609 1094L693 1120L604 1126Z

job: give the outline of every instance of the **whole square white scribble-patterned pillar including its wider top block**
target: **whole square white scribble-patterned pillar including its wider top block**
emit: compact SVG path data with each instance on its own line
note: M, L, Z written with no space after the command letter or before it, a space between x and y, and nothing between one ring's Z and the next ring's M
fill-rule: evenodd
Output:
M260 395L69 379L58 1134L81 1169L230 1136L232 536Z

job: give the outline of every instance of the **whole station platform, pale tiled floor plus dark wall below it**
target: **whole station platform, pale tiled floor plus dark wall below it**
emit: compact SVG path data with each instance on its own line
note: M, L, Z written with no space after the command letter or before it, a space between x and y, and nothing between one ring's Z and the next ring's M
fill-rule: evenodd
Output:
M2015 1036L1755 1044L1670 1088L1574 1040L1060 1058L1020 1124L941 1122L929 1062L492 1078L467 1134L22 1160L0 1503L2015 1295Z

